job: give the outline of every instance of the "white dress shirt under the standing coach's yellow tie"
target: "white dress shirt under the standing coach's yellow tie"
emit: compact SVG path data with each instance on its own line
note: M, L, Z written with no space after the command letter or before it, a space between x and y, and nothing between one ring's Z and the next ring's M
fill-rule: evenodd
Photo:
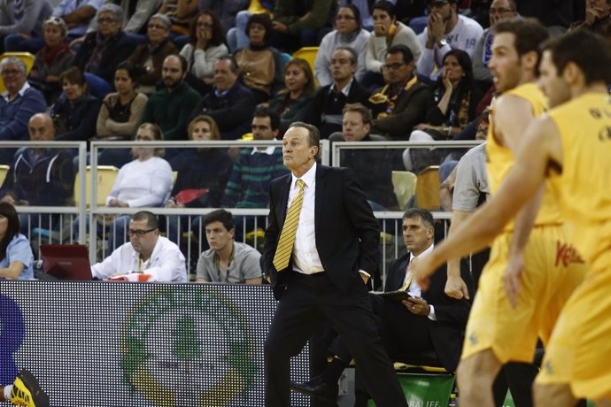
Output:
M299 187L298 178L293 174L290 181L289 202L297 196ZM299 178L306 183L304 187L304 203L301 205L299 223L295 234L295 245L293 246L293 270L298 273L313 274L324 271L322 268L321 257L316 249L316 227L314 225L314 205L316 197L316 163L312 165L303 177Z

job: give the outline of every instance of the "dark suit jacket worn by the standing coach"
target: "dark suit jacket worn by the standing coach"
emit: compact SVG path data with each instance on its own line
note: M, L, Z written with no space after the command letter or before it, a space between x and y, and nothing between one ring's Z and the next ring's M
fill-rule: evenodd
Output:
M272 180L269 186L269 218L263 246L263 265L280 299L294 275L292 263L275 270L275 250L286 218L291 175ZM318 165L316 168L314 223L316 249L322 267L337 289L346 293L362 284L359 270L374 273L379 256L380 229L352 170Z

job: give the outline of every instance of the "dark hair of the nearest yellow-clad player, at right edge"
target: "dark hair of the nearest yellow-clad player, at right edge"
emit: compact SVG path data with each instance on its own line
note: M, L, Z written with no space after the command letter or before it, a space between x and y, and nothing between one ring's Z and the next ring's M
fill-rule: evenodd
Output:
M569 62L584 73L586 85L611 83L611 46L607 40L587 29L570 31L545 42L542 50L552 53L552 62L560 76Z

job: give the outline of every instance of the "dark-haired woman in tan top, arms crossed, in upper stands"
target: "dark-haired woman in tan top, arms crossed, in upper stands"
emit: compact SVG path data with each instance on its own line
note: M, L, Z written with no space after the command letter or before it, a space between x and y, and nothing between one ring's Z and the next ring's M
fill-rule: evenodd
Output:
M248 48L237 50L236 63L244 85L251 89L255 103L267 102L282 88L282 55L269 46L272 35L272 20L269 15L252 14L246 25L246 34L251 40Z

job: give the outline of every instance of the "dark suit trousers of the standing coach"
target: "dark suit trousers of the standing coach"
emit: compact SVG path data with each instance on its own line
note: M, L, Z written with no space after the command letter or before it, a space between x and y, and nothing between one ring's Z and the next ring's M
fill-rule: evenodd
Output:
M265 342L266 406L290 406L290 357L298 355L324 319L350 349L376 405L407 407L365 284L354 280L344 293L326 273L295 273L278 303Z

